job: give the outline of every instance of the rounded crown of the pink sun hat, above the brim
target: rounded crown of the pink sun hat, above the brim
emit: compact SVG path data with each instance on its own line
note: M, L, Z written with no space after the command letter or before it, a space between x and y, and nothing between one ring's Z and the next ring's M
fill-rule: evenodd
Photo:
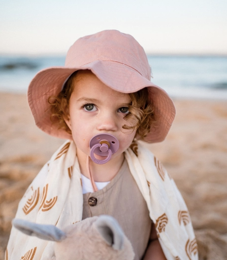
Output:
M65 67L82 67L95 61L118 62L151 79L143 47L134 37L117 30L105 30L76 40L67 52Z

